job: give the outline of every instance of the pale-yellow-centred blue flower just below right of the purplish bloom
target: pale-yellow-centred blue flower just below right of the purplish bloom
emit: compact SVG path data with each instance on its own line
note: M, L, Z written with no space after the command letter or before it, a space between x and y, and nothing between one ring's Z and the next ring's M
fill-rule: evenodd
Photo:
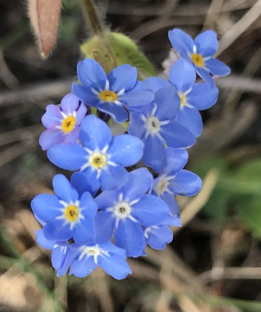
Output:
M48 150L49 160L67 170L83 172L91 183L103 190L117 187L124 181L124 167L135 165L142 157L143 142L135 136L120 134L112 137L108 125L94 115L82 122L80 140L76 144L58 144Z

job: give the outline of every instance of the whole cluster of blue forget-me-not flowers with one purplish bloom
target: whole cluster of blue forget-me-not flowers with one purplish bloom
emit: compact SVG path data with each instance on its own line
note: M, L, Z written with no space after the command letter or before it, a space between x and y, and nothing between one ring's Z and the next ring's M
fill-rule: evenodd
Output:
M198 110L217 100L213 75L225 76L229 68L212 57L213 31L193 41L174 29L169 39L180 58L168 81L138 81L136 68L127 64L106 75L99 63L85 59L72 93L60 106L47 106L40 145L54 165L74 172L70 180L56 175L54 194L32 201L43 226L37 242L52 250L58 276L70 269L84 277L100 266L125 278L131 273L127 257L172 241L169 226L181 226L175 196L193 196L202 186L183 169L186 148L202 131ZM197 82L196 74L206 82ZM126 132L113 135L111 118L128 125Z

